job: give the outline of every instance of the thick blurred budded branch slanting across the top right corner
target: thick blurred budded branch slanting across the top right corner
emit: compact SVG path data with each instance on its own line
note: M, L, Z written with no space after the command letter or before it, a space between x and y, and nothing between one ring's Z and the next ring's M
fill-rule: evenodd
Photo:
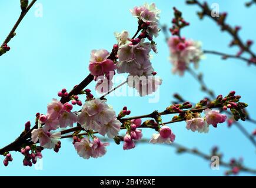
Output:
M220 16L212 16L212 10L208 6L207 2L204 2L204 4L202 4L197 0L188 0L187 4L198 5L202 9L201 12L198 12L198 16L201 19L204 18L204 16L208 16L208 18L211 18L221 27L221 31L226 31L230 33L230 35L232 36L230 46L238 46L240 48L240 51L235 56L239 57L244 52L247 52L251 56L249 64L256 65L256 55L251 50L251 45L253 42L251 40L248 40L246 43L244 43L238 35L238 31L240 31L241 27L235 26L233 28L225 22L225 19L227 18L227 12L220 14Z

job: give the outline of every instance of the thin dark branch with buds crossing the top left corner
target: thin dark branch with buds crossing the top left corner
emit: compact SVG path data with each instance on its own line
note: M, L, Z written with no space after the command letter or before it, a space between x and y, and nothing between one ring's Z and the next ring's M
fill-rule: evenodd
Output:
M11 48L8 46L8 42L11 41L12 38L16 35L15 31L21 23L22 19L28 13L29 9L35 4L36 0L32 0L30 4L28 4L28 0L21 0L21 15L19 15L18 20L16 21L14 27L12 28L9 35L6 37L5 41L0 46L0 56L4 53L8 52Z

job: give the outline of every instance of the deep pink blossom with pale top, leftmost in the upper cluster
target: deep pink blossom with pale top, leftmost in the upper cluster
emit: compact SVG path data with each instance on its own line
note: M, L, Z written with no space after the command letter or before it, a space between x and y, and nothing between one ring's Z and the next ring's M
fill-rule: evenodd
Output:
M89 62L89 71L94 76L104 75L109 71L114 71L115 65L111 59L107 59L109 52L105 49L93 50Z

